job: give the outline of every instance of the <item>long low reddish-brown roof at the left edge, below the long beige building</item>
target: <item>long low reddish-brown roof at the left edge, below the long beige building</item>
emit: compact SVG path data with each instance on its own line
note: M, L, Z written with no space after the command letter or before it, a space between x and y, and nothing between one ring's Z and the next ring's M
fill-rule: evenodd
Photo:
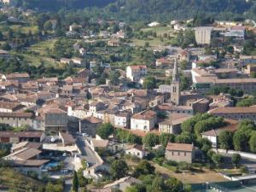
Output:
M0 137L42 137L43 131L0 131Z

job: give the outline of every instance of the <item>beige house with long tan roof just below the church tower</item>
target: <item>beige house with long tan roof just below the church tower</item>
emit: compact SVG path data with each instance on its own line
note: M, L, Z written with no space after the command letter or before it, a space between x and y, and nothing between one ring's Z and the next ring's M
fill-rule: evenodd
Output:
M182 123L191 117L191 115L184 113L171 113L168 119L159 123L159 131L161 133L179 134Z

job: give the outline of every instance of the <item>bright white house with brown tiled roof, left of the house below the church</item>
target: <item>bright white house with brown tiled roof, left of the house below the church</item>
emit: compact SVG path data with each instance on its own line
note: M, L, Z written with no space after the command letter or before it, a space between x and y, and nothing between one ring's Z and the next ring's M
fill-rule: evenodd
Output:
M145 110L131 117L131 130L151 131L156 123L156 113Z

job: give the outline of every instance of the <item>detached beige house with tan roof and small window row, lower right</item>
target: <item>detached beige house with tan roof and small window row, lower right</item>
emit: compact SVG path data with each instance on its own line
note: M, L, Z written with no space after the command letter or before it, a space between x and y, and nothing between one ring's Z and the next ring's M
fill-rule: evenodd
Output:
M195 159L193 144L168 143L166 146L166 160L192 163Z

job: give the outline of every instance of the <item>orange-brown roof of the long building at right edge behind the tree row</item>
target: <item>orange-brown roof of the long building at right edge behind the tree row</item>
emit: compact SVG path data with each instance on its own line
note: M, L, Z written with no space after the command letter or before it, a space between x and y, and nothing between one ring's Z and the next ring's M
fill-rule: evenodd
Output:
M223 107L213 108L209 113L256 113L256 107Z

